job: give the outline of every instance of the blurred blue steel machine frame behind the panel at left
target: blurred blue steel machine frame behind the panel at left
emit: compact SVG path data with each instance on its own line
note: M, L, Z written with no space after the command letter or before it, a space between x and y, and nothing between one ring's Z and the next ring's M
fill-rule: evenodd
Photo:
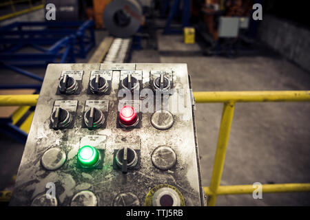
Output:
M0 28L0 67L8 68L40 83L43 78L19 67L46 67L49 63L75 63L95 45L94 22L15 22ZM47 47L48 46L48 47ZM23 53L32 47L34 53ZM0 86L24 88L25 85ZM29 86L27 86L29 87ZM39 88L41 85L33 85Z

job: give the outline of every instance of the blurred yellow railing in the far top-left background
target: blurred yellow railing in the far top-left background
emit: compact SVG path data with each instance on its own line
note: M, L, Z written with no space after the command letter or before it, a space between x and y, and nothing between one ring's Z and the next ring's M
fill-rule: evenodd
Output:
M25 3L25 2L28 2L28 8L24 8L23 10L17 10L17 7L15 7L15 5L17 3ZM9 0L9 1L7 0L3 3L0 3L0 9L10 5L10 8L12 10L12 12L8 14L1 15L0 21L3 21L5 19L10 19L12 17L16 17L16 16L19 16L21 14L25 14L28 12L32 12L34 10L39 10L41 8L44 8L45 0L42 0L41 2L42 3L40 5L33 5L32 0Z

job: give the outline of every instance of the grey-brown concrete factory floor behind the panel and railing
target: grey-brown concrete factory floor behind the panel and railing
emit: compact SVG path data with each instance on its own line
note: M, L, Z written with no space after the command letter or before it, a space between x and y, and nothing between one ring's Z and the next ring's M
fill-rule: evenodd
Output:
M105 32L97 32L97 43ZM178 53L180 52L180 53ZM180 54L180 56L178 56ZM78 62L87 62L81 60ZM310 75L279 56L206 57L181 35L158 33L158 50L138 50L132 63L187 63L194 91L309 90ZM37 69L43 76L45 69ZM1 82L35 83L1 72ZM196 124L203 177L211 177L223 104L197 104ZM222 185L310 182L310 103L238 103L231 127ZM10 186L23 146L0 135L0 190ZM12 156L12 157L11 157ZM218 206L309 206L310 193L219 196Z

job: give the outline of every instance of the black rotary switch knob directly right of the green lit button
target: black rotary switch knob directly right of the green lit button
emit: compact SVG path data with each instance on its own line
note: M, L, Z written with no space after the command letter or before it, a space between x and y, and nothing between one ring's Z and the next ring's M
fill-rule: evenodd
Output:
M116 164L122 169L123 173L127 173L127 168L136 166L138 155L132 148L124 147L116 152Z

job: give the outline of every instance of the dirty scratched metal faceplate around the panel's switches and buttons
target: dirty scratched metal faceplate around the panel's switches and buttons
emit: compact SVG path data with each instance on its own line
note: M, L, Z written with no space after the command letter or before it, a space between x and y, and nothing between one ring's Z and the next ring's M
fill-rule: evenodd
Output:
M112 90L107 96L87 94L90 73L93 70L110 69L112 74ZM46 70L41 94L37 103L32 126L25 145L23 157L13 190L11 206L30 206L35 198L45 194L46 184L55 184L56 201L49 205L70 206L78 193L92 195L89 203L97 206L113 206L115 199L122 193L134 197L134 204L143 206L147 192L159 184L169 184L177 188L185 199L186 206L205 205L203 189L200 186L200 168L198 146L192 106L184 115L173 113L174 123L170 129L159 130L152 126L152 113L142 113L141 129L116 128L118 112L118 83L120 70L142 70L143 87L149 87L151 71L172 71L173 85L176 89L189 89L189 78L186 64L50 64ZM61 73L64 70L83 70L81 91L78 95L56 95ZM174 93L173 96L177 96ZM191 96L185 96L191 103ZM50 116L55 100L77 100L77 109L72 129L50 129ZM86 100L109 100L105 129L88 130L83 127L83 112ZM99 141L92 144L104 152L103 167L85 169L76 166L76 154L81 144L87 142L87 135L102 135ZM83 143L81 140L83 138ZM88 137L87 137L88 138ZM91 142L91 140L90 140ZM140 168L121 170L113 168L115 149L130 146L140 149ZM158 146L168 146L176 153L176 164L168 170L161 170L152 164L152 152ZM59 147L66 155L65 163L56 170L43 167L41 157L50 148ZM86 191L85 191L86 190ZM90 194L93 192L93 194ZM132 196L131 196L132 195ZM125 198L125 196L124 196ZM138 199L136 199L138 198ZM35 201L37 202L37 200ZM42 201L41 205L44 202Z

